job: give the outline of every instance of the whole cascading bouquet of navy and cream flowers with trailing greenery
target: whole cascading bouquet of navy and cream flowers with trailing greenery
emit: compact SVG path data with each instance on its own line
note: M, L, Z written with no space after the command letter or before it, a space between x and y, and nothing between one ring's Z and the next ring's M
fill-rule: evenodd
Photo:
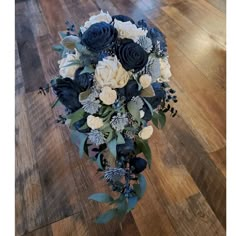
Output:
M62 57L59 76L40 92L56 94L65 106L58 122L69 126L80 157L86 154L117 192L116 197L96 193L89 199L114 204L96 219L106 223L131 211L146 189L141 172L151 166L149 121L160 128L165 113L175 116L177 102L168 85L171 77L167 45L158 28L144 20L135 23L123 15L101 11L79 32L66 22L61 43L54 45ZM140 156L140 154L142 154Z

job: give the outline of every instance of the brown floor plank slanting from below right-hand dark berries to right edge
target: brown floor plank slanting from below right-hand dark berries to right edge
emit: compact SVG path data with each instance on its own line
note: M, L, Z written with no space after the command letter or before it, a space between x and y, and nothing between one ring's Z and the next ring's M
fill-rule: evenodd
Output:
M226 226L226 180L196 139L188 126L179 117L169 121L166 135L181 162L194 179L221 224ZM215 184L217 183L217 185Z

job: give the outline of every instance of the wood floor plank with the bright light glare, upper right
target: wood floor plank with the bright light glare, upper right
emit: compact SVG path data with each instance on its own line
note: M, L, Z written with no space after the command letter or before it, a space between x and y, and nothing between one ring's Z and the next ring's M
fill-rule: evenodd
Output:
M170 7L163 8L163 10L165 9L170 9ZM173 8L171 7L171 9ZM226 56L224 48L219 46L208 34L201 32L201 29L199 29L200 34L199 30L190 32L194 25L180 12L178 14L169 13L169 15L161 12L160 16L150 19L150 21L165 32L175 47L179 48L207 79L212 83L218 83L219 87L225 88ZM181 27L184 24L191 25L191 28L188 27L189 30L186 31Z

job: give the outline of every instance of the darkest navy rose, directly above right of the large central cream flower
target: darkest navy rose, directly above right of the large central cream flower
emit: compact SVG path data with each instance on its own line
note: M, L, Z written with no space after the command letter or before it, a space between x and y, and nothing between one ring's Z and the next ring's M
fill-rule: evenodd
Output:
M122 39L117 47L117 57L122 66L127 70L140 71L148 61L148 54L131 39Z

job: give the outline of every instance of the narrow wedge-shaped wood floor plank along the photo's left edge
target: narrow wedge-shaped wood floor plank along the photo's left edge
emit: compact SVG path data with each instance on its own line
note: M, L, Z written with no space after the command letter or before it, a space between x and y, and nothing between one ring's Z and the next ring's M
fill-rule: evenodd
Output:
M16 235L47 222L31 129L24 105L24 82L16 45L15 226Z

